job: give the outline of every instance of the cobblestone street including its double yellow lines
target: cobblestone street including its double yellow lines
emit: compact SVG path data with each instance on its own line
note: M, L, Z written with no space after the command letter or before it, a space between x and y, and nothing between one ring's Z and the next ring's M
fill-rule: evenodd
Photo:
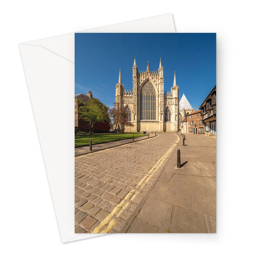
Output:
M160 133L75 157L75 232L125 232L179 142Z

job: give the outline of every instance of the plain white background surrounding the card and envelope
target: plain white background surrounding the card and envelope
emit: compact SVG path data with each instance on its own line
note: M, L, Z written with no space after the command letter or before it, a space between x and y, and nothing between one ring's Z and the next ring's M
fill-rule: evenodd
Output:
M18 44L167 12L173 13L177 32L217 33L217 234L111 234L61 244ZM255 24L255 9L249 0L1 3L0 253L253 254ZM55 132L59 127L52 129Z

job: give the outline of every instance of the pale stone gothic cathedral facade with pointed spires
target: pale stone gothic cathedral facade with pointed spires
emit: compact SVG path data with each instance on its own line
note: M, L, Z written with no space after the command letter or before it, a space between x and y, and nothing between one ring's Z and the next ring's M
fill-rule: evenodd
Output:
M179 87L176 75L171 90L164 91L161 59L158 71L138 71L136 57L133 65L133 89L122 85L121 69L115 86L115 108L124 108L133 126L120 127L124 132L177 132L179 130Z

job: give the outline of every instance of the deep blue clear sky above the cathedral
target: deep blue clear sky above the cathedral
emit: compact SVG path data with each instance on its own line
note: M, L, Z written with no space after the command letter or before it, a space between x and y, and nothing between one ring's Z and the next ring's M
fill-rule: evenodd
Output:
M108 107L115 101L119 68L122 84L132 90L134 55L139 70L158 70L161 57L164 90L176 82L195 110L216 85L215 33L76 33L75 94L92 91Z

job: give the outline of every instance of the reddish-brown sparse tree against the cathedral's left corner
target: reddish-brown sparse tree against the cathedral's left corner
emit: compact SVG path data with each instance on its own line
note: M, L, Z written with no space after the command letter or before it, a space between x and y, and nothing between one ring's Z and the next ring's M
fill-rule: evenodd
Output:
M126 109L122 106L109 109L111 126L114 127L115 132L118 125L120 126L134 126L132 122L127 120Z

